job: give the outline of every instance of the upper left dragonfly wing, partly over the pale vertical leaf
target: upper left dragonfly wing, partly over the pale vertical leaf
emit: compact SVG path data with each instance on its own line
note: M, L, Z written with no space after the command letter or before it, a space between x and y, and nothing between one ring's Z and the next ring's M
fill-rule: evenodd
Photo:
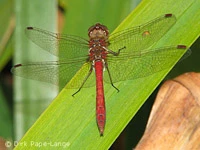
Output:
M25 33L36 45L59 58L76 58L88 54L88 41L81 37L52 33L36 27L27 27Z

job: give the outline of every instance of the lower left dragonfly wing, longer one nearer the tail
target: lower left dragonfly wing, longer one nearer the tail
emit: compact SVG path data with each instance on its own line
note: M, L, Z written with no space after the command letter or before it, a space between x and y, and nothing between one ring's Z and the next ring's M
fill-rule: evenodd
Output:
M48 82L51 84L59 85L61 88L64 87L72 77L77 74L78 70L82 67L81 76L85 77L90 69L90 62L85 63L84 61L52 61L52 62L37 62L31 64L18 64L15 65L11 71L13 74L38 80L42 82ZM73 80L70 82L70 86L67 88L79 88L83 81ZM84 87L93 86L94 84L85 84Z

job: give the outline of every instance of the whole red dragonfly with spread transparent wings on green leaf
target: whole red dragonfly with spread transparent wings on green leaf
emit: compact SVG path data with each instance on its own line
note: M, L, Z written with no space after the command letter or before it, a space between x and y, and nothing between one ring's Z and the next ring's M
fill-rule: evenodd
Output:
M67 88L77 88L77 92L82 87L93 86L96 76L96 120L100 135L103 135L106 121L103 79L119 91L114 86L115 82L146 77L169 68L172 65L169 59L180 56L186 46L150 47L175 22L174 15L165 14L146 24L111 35L106 26L97 23L88 29L89 40L27 27L28 38L44 50L59 56L59 61L17 64L12 72L61 87L75 74L79 74L78 79L75 76L67 85Z

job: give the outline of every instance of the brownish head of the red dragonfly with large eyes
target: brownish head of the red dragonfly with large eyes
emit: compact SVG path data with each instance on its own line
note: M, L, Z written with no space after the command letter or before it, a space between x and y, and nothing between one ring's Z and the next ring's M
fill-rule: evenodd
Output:
M109 35L108 28L100 23L97 23L88 29L88 36L90 38L107 39L108 35Z

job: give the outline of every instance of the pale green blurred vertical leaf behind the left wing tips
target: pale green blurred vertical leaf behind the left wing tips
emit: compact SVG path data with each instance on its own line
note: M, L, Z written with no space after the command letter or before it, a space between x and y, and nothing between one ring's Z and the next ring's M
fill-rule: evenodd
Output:
M57 1L16 0L16 30L14 35L14 64L56 60L25 35L28 26L50 31L57 28ZM57 87L14 76L14 138L19 141L51 100Z

